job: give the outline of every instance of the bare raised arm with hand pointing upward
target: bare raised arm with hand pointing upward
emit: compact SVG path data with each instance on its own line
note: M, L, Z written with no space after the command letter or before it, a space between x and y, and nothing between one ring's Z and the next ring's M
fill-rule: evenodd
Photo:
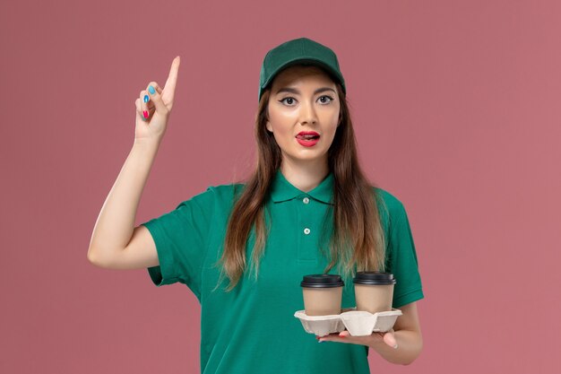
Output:
M136 99L133 149L101 207L91 234L88 259L112 269L159 265L156 245L143 226L134 228L142 190L166 132L177 83L179 57L174 58L163 90L151 82Z

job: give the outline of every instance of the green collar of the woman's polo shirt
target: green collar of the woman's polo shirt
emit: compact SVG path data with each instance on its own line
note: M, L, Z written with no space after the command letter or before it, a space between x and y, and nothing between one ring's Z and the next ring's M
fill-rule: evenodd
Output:
M310 196L325 204L332 204L333 174L330 172L322 182L309 192L304 192L294 187L287 178L284 178L280 169L275 173L271 185L271 198L274 203L292 200L298 196Z

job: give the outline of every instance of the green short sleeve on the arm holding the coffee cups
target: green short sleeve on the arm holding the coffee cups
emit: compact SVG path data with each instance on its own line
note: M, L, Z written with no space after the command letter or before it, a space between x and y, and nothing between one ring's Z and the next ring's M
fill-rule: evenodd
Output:
M417 251L407 212L401 203L390 213L388 255L386 272L392 273L396 280L392 307L399 309L410 302L423 299Z

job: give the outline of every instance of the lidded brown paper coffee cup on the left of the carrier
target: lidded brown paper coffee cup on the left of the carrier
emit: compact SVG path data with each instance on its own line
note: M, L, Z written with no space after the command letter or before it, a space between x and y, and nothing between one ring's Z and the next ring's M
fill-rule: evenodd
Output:
M340 314L344 284L341 275L305 275L300 286L304 294L306 316Z

